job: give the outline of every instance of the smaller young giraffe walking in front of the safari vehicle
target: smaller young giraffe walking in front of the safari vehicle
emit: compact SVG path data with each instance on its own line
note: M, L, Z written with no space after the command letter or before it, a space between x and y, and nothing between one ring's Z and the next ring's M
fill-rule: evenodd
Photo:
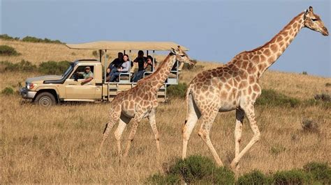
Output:
M142 118L148 118L149 124L154 132L157 151L160 152L159 133L155 121L155 109L156 106L158 106L156 94L168 78L170 70L176 61L192 64L189 56L187 56L181 47L178 46L177 49L172 49L172 51L170 51L170 54L164 59L163 63L153 74L145 79L141 79L134 88L119 93L115 99L112 100L110 105L112 107L112 110L110 111L110 122L106 124L98 154L101 151L105 139L110 133L110 129L112 129L115 123L119 122L115 131L115 139L117 140L117 149L119 157L121 158L121 136L126 124L133 119L133 125L128 136L128 144L126 145L124 153L125 157L128 154L128 150L130 149L135 136L135 131Z

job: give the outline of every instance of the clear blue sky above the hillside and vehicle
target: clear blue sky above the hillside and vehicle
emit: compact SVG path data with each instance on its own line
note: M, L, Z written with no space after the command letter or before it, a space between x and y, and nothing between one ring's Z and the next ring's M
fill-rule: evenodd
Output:
M226 63L265 44L314 7L330 28L330 1L1 1L1 34L66 43L172 41L189 56ZM331 77L330 36L302 29L270 69Z

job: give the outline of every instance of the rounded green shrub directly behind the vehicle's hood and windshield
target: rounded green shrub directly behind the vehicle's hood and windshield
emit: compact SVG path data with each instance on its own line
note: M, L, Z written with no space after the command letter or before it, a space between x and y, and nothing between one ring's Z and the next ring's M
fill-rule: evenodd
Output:
M70 63L68 61L47 61L39 65L38 71L43 74L63 74L69 66Z

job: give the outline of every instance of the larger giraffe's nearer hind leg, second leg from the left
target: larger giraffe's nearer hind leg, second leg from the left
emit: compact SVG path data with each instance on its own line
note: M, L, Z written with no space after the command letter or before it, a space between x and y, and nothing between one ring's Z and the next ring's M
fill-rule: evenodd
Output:
M217 113L218 113L218 111L216 111L216 110L203 113L203 115L201 116L203 123L201 124L198 135L203 139L203 141L205 141L205 143L209 147L209 150L212 152L212 155L214 156L214 159L215 159L217 165L223 166L223 163L222 163L221 159L219 158L219 154L217 154L214 146L212 145L212 141L210 140L210 137L209 137L210 129L212 128L212 123L214 122Z

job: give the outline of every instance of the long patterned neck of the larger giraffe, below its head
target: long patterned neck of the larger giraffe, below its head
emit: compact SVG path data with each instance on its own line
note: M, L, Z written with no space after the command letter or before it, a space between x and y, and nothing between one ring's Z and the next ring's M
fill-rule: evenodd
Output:
M260 78L293 41L297 33L304 27L304 13L300 13L288 23L277 35L262 47L251 52L251 61L257 66L257 77Z

